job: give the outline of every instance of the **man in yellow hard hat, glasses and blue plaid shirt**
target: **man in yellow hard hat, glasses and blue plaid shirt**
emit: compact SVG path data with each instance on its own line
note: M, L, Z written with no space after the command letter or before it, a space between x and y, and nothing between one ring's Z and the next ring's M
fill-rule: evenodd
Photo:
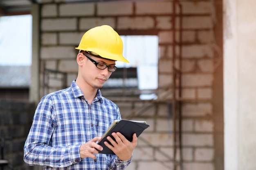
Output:
M101 95L115 61L127 62L123 42L112 27L87 31L76 49L78 76L70 87L44 96L38 103L24 146L24 161L45 170L123 170L137 145L121 133L112 133L104 144L115 155L99 154L97 144L111 123L121 119L118 106Z

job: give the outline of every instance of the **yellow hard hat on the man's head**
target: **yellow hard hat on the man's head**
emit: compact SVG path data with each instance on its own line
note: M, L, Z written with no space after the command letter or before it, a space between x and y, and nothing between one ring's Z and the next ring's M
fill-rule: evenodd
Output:
M108 25L102 25L85 32L76 49L92 51L103 58L129 63L123 56L123 47L123 41L117 32Z

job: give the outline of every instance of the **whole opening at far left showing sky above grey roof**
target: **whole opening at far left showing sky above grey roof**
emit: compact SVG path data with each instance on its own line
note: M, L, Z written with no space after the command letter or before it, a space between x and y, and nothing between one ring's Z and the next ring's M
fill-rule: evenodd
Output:
M0 17L0 99L29 101L32 16Z

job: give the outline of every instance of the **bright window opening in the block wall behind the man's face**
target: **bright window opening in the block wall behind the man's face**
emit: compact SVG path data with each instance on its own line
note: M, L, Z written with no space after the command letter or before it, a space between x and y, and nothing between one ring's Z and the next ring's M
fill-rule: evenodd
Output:
M117 61L118 69L110 76L104 88L137 88L142 93L139 95L140 99L155 99L156 94L148 92L158 87L158 36L121 38L124 43L124 57L130 63Z

